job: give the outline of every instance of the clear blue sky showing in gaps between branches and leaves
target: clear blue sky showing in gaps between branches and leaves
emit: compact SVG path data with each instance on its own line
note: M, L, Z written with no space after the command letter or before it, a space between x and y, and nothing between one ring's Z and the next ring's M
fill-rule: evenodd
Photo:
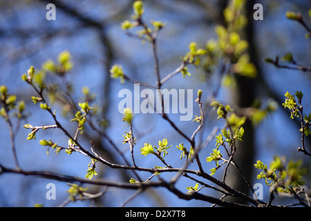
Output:
M73 3L73 1L65 1L66 3ZM167 27L160 32L158 39L159 45L159 57L161 65L162 77L167 73L175 70L180 65L180 56L185 55L188 50L188 44L190 41L198 42L198 45L204 46L208 39L215 36L213 23L195 23L189 24L187 21L191 19L200 20L200 12L202 9L198 7L192 7L187 3L180 3L180 5L170 5L176 1L166 1L167 8L162 10L161 8L153 7L151 1L147 1L145 10L145 20L150 19L162 20L167 22ZM117 1L117 3L107 2L105 6L100 6L96 1L84 1L81 5L76 6L81 10L85 17L100 18L107 22L107 36L111 39L114 52L116 55L115 63L122 64L125 73L129 73L134 79L140 81L147 81L149 84L154 84L156 78L154 77L153 59L151 46L148 44L141 44L137 39L131 39L124 35L124 32L120 28L120 21L109 21L109 17L114 15L116 7L124 6L126 1ZM285 18L285 12L287 10L298 10L298 3L301 6L305 6L305 10L302 12L304 16L307 14L310 4L303 1L261 1L264 6L264 19L263 21L256 21L256 43L258 44L258 53L261 57L261 68L263 69L263 75L268 84L273 88L278 95L283 95L287 90L290 93L294 93L296 90L302 90L305 94L303 104L305 110L311 109L311 94L310 89L310 75L308 73L302 73L299 71L291 70L278 70L270 64L265 64L263 58L275 57L276 55L284 55L286 52L293 52L294 57L297 58L306 66L310 66L310 40L304 38L305 30ZM281 4L282 3L282 4ZM297 3L297 4L296 4ZM273 6L275 5L275 6ZM97 7L100 6L100 7ZM173 10L173 9L177 10ZM12 10L15 13L10 12ZM172 11L171 11L172 10ZM2 11L1 11L2 12ZM69 50L73 57L74 68L71 73L68 74L67 79L73 80L75 87L75 97L78 99L81 96L81 88L88 86L91 88L91 92L97 94L97 101L102 104L104 97L102 96L102 87L104 82L104 68L102 61L105 59L102 56L101 48L99 48L99 37L96 32L91 28L81 27L75 19L65 15L62 11L57 10L56 21L46 21L45 19L46 9L42 3L34 3L26 5L19 3L19 6L12 6L12 8L6 8L6 11L0 13L0 28L3 30L9 30L12 27L17 27L25 30L41 30L37 36L31 38L20 39L19 37L8 37L2 39L6 41L5 46L6 54L0 55L0 59L3 68L0 70L0 84L6 84L9 91L19 94L23 97L23 94L33 92L30 87L21 81L21 75L26 73L26 70L30 65L39 68L41 64L47 59L55 60L57 55L62 50ZM124 16L129 19L130 15ZM206 15L209 17L209 15ZM307 17L308 19L308 17ZM196 21L196 20L194 20ZM307 20L310 24L310 19ZM77 27L77 28L73 28ZM53 30L62 29L57 37L52 41L40 41L40 37L44 33ZM69 30L69 32L66 32ZM38 46L38 49L32 48L32 45ZM32 51L33 49L33 51ZM24 54L24 55L23 55ZM209 91L205 82L199 81L199 73L191 68L191 77L184 79L181 75L174 77L173 81L167 82L165 85L167 88L192 88L194 92L201 88L203 92ZM107 74L107 73L106 73ZM129 128L124 122L122 122L122 115L117 111L118 102L120 98L117 97L117 93L122 88L129 88L133 90L133 84L126 83L120 84L119 79L113 79L110 81L110 104L109 111L107 113L108 119L113 119L113 124L109 127L109 135L111 138L119 144L122 148L123 132L128 131ZM261 93L259 93L261 94ZM262 93L264 94L264 93ZM196 95L196 93L194 93ZM229 102L229 92L227 89L221 90L218 98L223 101ZM31 103L27 105L28 112L31 113L28 118L28 122L32 125L41 124L53 124L52 119L37 106L33 106ZM296 153L296 146L300 145L299 128L296 128L289 115L286 115L281 109L283 106L279 104L278 110L267 117L256 130L256 157L255 159L261 159L266 164L272 160L274 154L286 155L288 158L304 158L301 153ZM38 111L39 110L39 111ZM60 110L58 110L60 111ZM198 111L195 109L195 111ZM196 113L194 113L195 115ZM198 114L198 113L197 113ZM173 119L178 119L175 115L172 115ZM167 140L173 145L171 152L167 155L167 161L172 165L181 164L179 160L180 152L175 146L182 142L178 134L173 132L169 124L161 120L157 115L135 115L134 119L134 132L137 130L140 133L144 131L150 131L147 135L144 135L138 140L137 146L135 146L135 153L137 162L140 166L152 167L160 162L157 159L152 159L152 156L144 157L140 155L139 148L143 146L145 142L157 144L158 140L162 140L167 137ZM62 122L66 123L65 119ZM214 124L221 125L221 122L211 120ZM26 122L25 122L26 123ZM214 124L207 127L205 135L208 135ZM73 123L65 124L74 131ZM8 131L6 124L3 120L0 120L1 133L1 153L0 163L5 166L14 166L12 159L12 152L10 150L10 140L8 139ZM178 126L183 131L191 133L196 128L196 124L193 122L178 122ZM21 128L17 136L17 150L18 157L21 166L28 170L51 170L59 173L65 173L70 175L79 175L84 177L86 169L90 160L77 153L73 155L66 155L66 153L60 153L55 155L53 151L50 151L50 156L46 156L46 148L39 146L38 142L43 138L50 138L57 140L57 143L66 145L66 137L60 136L61 133L55 131L44 131L37 134L37 140L26 141L26 137L29 131ZM88 145L85 142L85 145ZM209 155L209 151L214 147L214 142L211 142L207 148L205 148L205 155ZM178 155L178 157L176 157ZM202 154L202 162L205 166L208 166L205 161L205 155ZM126 157L130 159L129 151L126 152ZM156 158L156 157L154 157ZM217 175L217 174L216 174ZM146 179L150 174L145 173L143 175ZM161 175L165 178L171 177L170 174ZM106 179L118 180L119 173L114 171L107 171ZM54 182L57 186L57 200L46 200L46 184ZM256 182L256 181L254 181ZM178 182L180 189L185 190L186 186L194 186L194 182ZM68 185L64 182L51 181L46 179L39 179L35 177L23 177L21 175L4 174L0 176L0 205L1 206L32 206L35 203L44 203L46 206L56 206L64 201L67 197L66 190ZM156 190L158 191L158 190ZM202 193L210 193L209 190L202 190ZM265 189L267 195L268 190ZM133 194L133 191L123 191L120 189L114 189L107 193L106 203L111 206L119 206ZM156 206L150 198L147 196L151 192L144 193L141 197L136 198L129 203L129 206ZM165 190L159 189L157 194L163 198L163 202L167 206L209 206L198 201L187 202L179 200L176 196L171 195ZM214 193L212 193L214 194ZM109 200L111 199L111 200ZM69 204L69 206L88 206L90 202L76 202L75 204Z

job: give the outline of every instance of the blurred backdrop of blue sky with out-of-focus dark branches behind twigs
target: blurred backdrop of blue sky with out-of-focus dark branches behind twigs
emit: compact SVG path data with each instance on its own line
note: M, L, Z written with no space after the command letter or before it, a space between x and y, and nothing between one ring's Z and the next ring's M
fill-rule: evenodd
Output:
M56 20L46 20L46 5L55 3ZM268 164L273 155L284 155L287 159L302 159L305 166L310 169L310 158L296 151L301 146L299 124L290 119L290 115L281 102L284 100L286 91L295 93L301 90L304 93L303 105L305 113L311 112L311 75L301 71L277 69L266 64L265 57L274 58L276 55L285 55L292 52L296 61L305 66L310 66L311 41L305 39L305 29L294 21L286 19L285 12L301 12L309 25L308 10L311 8L310 1L254 1L263 5L263 21L254 21L249 17L249 22L254 26L254 50L256 53L256 64L260 68L260 78L256 79L256 97L263 101L274 99L278 102L277 110L270 114L261 124L255 128L254 136L254 163L261 159ZM128 146L122 145L123 132L129 131L122 115L117 111L120 98L117 93L122 88L133 91L133 84L126 82L120 84L119 79L111 79L109 70L113 64L121 64L126 75L133 79L155 84L156 77L153 69L152 50L149 44L142 44L138 39L132 39L124 34L120 23L129 19L133 14L133 1L128 0L92 0L92 1L0 1L0 84L5 84L9 92L17 95L17 99L26 102L28 119L23 124L50 125L53 119L42 111L38 106L32 104L30 97L35 92L21 80L21 75L26 73L32 65L41 68L48 59L57 59L59 52L70 51L73 60L73 70L66 75L66 81L73 85L73 97L77 102L82 97L82 88L88 86L91 93L96 95L96 103L102 107L102 116L109 122L106 133L120 146L124 155L131 161ZM214 27L222 23L223 7L226 1L183 1L183 0L160 0L144 1L144 21L160 20L167 26L160 32L158 37L158 55L160 58L161 77L171 73L180 65L180 57L188 51L191 41L196 41L199 46L204 47L207 41L216 37ZM254 11L252 11L254 12ZM252 12L249 12L252 14ZM173 80L165 84L165 88L191 88L194 96L198 88L204 91L208 97L214 90L217 75L206 76L202 70L189 68L191 77L182 78L177 75ZM64 81L59 81L50 76L50 81L64 86ZM195 99L195 97L194 97ZM232 102L229 88L222 88L217 99L222 102ZM56 104L57 113L62 113L62 104ZM198 114L198 108L194 104L194 115ZM195 122L178 122L179 115L169 115L177 125L187 134L196 129ZM75 122L68 122L72 116L60 116L60 120L70 133L75 133ZM160 165L156 157L140 155L139 149L145 142L156 145L158 140L167 138L173 145L166 156L167 162L173 166L181 166L180 151L176 145L185 140L178 135L171 126L159 115L135 115L134 133L139 137L135 146L136 162L139 166L153 167ZM215 113L209 113L207 124L200 137L206 137L211 133L214 126L222 126L222 122L216 120ZM3 119L0 120L0 163L7 167L14 167L14 160L10 148L8 126ZM67 139L55 130L39 131L37 140L26 140L30 131L24 128L19 130L16 137L17 157L23 169L47 170L66 175L77 175L84 177L90 159L84 155L74 153L67 155L62 151L55 155L50 150L50 156L46 155L46 148L39 145L41 139L51 139L57 144L66 146ZM202 139L203 139L202 138ZM82 144L90 146L91 139L101 149L104 157L115 162L124 163L120 156L116 155L113 148L105 139L98 137L89 128L86 129L81 138ZM310 142L307 140L307 148ZM209 144L201 154L201 161L208 168L205 158L211 153L214 141ZM309 148L310 150L310 148ZM154 159L153 159L154 158ZM195 167L193 167L195 168ZM115 171L107 167L97 167L98 177L105 180L116 180L127 182L133 173L129 171ZM261 182L256 180L254 170L252 184ZM162 174L161 174L162 175ZM169 179L173 174L164 174ZM221 174L219 173L220 177ZM149 173L142 173L147 179ZM217 173L215 174L217 177ZM310 175L306 176L306 186L310 186ZM97 177L96 177L97 178ZM156 179L154 177L153 179ZM57 188L57 199L46 200L46 184L53 182ZM196 183L178 182L178 187L187 191L187 186ZM87 186L87 185L86 185ZM58 206L68 198L69 186L66 182L47 180L38 177L25 177L17 174L0 175L0 206L33 206L35 203L44 206ZM93 193L102 191L102 187L90 190ZM122 189L109 189L101 200L95 202L78 201L68 206L120 206L134 191ZM218 196L209 189L202 189L202 193ZM268 199L269 189L264 187L264 200ZM276 202L286 203L287 198L278 199ZM210 206L205 202L192 200L187 202L178 199L164 189L153 189L138 195L126 206Z

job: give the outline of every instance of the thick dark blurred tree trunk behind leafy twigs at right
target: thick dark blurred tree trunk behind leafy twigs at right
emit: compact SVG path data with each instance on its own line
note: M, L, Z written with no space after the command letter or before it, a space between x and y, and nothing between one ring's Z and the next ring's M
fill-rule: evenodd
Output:
M258 75L260 75L260 70L258 70L258 60L256 59L256 47L254 45L254 19L253 19L253 10L254 0L247 0L245 4L245 13L247 15L247 26L244 30L244 38L249 43L249 57L251 62L255 64ZM236 87L232 88L232 104L238 108L247 108L252 105L252 102L255 99L255 90L256 90L257 79L249 79L240 75L236 76ZM234 155L234 160L236 164L243 171L247 180L251 182L253 164L254 164L254 127L252 122L249 119L243 125L245 129L245 134L243 135L243 142L237 142L237 151ZM227 184L233 189L238 189L243 193L249 193L249 186L243 180L241 173L239 173L234 166L229 166L227 171ZM252 184L252 182L251 182ZM232 198L232 201L245 203L242 199Z

